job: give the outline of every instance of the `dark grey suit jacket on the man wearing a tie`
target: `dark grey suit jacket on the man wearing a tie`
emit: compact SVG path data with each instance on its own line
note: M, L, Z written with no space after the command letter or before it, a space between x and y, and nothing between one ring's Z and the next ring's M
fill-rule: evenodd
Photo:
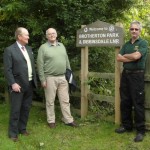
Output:
M25 47L31 60L33 84L35 87L37 87L33 52L31 47ZM19 49L17 43L12 44L11 46L5 49L3 61L5 76L8 85L11 87L12 84L18 83L21 86L21 90L26 89L29 85L28 67L26 59L22 54L21 50Z

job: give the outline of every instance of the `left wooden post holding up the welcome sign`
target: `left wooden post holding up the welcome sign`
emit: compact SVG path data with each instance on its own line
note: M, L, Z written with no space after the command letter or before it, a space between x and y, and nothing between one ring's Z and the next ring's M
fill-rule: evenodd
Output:
M81 48L81 118L88 113L88 47Z

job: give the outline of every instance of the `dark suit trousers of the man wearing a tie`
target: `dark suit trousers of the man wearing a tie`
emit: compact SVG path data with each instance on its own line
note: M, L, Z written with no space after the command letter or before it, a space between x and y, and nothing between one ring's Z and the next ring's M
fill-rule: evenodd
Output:
M33 85L22 92L10 92L9 137L16 137L26 131L29 111L32 104Z

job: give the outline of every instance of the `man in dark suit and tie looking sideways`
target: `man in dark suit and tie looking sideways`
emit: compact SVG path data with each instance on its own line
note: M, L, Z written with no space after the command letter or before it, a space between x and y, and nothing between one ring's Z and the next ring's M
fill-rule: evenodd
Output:
M37 86L34 57L28 30L19 27L15 32L16 42L4 51L4 71L10 93L10 120L8 136L14 142L18 134L29 135L26 130L32 103L33 88Z

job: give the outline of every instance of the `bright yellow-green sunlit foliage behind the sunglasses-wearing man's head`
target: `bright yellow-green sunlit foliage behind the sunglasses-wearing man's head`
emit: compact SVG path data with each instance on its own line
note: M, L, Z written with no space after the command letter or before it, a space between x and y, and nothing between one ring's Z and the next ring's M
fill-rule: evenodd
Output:
M138 20L142 23L143 29L141 37L147 39L150 42L150 1L149 0L137 0L137 2L129 9L123 12L123 18L119 21L123 22L123 26L127 31L126 39L129 39L128 33L130 22Z

